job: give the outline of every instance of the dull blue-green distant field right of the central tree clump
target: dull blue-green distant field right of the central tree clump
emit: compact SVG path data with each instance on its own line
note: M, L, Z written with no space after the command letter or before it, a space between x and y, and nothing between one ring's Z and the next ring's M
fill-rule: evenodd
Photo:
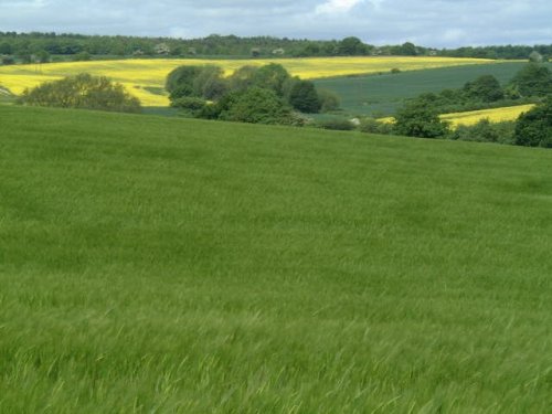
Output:
M481 75L493 75L507 84L527 62L506 62L493 65L465 65L399 74L381 74L318 79L320 88L333 91L341 99L342 109L351 115L393 115L403 99L427 92L459 88ZM552 70L552 64L548 66Z

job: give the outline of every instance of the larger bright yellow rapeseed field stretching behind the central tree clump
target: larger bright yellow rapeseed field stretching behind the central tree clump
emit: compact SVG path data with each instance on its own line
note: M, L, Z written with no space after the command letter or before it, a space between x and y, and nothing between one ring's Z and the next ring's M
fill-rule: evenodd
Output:
M495 63L484 59L424 57L424 56L361 56L361 57L305 57L273 60L119 60L92 62L63 62L36 65L0 67L0 84L14 94L46 81L54 81L77 73L108 76L119 82L137 96L145 106L167 106L169 100L162 92L164 78L181 65L219 65L230 75L245 65L261 66L279 63L293 75L301 78L319 78L389 72L392 68L415 71L433 67Z

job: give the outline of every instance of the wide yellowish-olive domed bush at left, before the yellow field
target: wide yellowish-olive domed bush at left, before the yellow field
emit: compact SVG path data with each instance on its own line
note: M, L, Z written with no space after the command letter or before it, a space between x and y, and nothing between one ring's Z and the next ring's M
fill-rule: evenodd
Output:
M25 89L21 103L32 106L62 108L85 108L137 113L138 98L130 96L123 85L114 84L107 77L79 74L60 81L47 82L34 89Z

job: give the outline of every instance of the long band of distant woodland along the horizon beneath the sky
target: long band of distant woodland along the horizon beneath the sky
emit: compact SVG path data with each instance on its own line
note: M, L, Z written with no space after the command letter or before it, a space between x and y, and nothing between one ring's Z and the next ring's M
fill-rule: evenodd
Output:
M211 34L201 39L139 38L123 35L83 35L72 33L18 33L0 31L0 63L46 63L50 61L85 61L102 56L367 56L367 55L440 55L455 57L540 59L552 56L550 45L500 45L431 49L405 42L399 45L364 43L359 38L307 40L274 36L241 38Z

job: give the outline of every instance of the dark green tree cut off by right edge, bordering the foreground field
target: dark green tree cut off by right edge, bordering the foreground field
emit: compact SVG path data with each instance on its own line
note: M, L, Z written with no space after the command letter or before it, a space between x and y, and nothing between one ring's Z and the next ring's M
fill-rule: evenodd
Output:
M516 124L514 144L552 148L552 96L519 117Z

